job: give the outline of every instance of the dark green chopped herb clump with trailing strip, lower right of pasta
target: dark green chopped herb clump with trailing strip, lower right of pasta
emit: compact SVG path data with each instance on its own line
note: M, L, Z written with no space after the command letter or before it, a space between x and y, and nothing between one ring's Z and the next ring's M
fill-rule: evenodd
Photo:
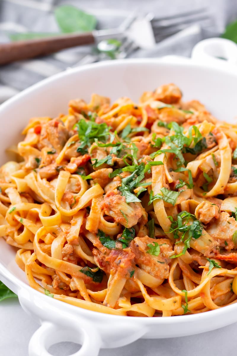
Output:
M177 215L177 220L174 220L172 216L168 216L168 218L171 221L169 233L173 233L174 239L179 239L176 244L179 242L184 243L183 251L179 253L179 255L170 257L176 258L185 254L188 248L190 248L190 241L192 239L198 239L201 236L203 232L203 226L201 225L200 221L196 219L196 216L188 213L188 211L181 211L181 213Z

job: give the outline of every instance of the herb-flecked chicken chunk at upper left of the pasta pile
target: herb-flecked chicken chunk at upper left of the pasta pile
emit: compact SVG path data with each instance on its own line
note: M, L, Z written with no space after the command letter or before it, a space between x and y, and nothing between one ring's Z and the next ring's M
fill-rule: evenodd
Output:
M42 126L38 148L41 150L44 146L49 146L59 153L68 141L68 138L69 132L64 126L63 121L56 118Z

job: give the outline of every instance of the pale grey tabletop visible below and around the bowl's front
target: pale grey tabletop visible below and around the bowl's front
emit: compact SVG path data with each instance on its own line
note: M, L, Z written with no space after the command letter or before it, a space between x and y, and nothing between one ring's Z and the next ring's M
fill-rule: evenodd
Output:
M39 323L26 314L18 299L0 303L0 355L27 356L29 340ZM236 356L237 323L209 333L173 339L140 339L117 349L103 349L99 356ZM78 348L68 344L54 346L53 355L66 356ZM88 355L90 356L90 355Z

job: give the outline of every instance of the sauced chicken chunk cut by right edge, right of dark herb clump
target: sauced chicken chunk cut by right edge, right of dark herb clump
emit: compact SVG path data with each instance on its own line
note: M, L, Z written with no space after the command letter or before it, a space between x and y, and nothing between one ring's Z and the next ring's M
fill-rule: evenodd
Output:
M208 234L217 241L221 247L225 247L227 251L237 247L237 244L232 240L234 232L237 231L237 221L230 215L222 211L219 219L210 223L206 227Z

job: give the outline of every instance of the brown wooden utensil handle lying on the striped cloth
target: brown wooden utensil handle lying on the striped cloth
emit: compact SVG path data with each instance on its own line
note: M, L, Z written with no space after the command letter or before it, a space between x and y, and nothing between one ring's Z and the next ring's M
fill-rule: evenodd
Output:
M44 56L64 48L89 45L95 42L92 32L38 38L36 40L17 41L0 44L0 64L22 59Z

